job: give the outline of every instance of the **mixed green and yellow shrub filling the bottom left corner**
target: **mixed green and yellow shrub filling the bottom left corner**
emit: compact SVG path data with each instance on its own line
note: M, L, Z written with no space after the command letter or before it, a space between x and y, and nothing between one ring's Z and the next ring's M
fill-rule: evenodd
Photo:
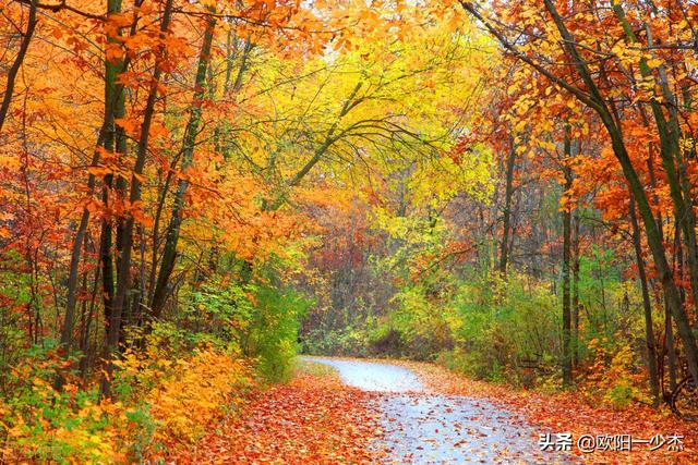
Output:
M120 397L99 401L96 387L81 390L70 374L73 359L57 355L57 343L32 346L8 374L12 395L0 401L3 460L37 463L140 461L152 444L154 423L144 404ZM61 375L61 390L55 382ZM8 455L9 454L9 455Z

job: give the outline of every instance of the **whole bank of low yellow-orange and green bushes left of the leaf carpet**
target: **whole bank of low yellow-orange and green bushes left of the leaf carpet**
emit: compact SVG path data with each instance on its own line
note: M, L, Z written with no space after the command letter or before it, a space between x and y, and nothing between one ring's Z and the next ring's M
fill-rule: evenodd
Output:
M26 378L13 401L0 403L0 463L153 457L201 438L254 382L251 367L229 351L202 347L177 359L165 352L157 344L139 356L127 352L115 374L115 400Z

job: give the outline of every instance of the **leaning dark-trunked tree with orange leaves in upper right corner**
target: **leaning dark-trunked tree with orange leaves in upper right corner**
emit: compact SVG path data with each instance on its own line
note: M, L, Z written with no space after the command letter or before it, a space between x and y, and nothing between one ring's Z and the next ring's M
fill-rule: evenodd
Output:
M674 44L672 39L657 37L658 30L661 29L660 23L670 21L674 10L669 8L662 10L662 14L650 17L659 11L652 10L652 5L649 4L638 4L634 7L633 16L629 17L625 11L627 5L621 3L612 3L610 9L603 5L591 9L581 4L561 5L553 1L544 1L540 5L534 2L522 3L513 10L504 10L501 4L493 4L493 8L488 9L472 2L461 2L461 5L483 24L508 53L540 73L541 77L555 86L557 91L573 96L593 110L605 127L613 154L623 169L642 218L648 246L660 273L667 306L684 344L690 374L694 379L698 378L698 351L690 329L691 325L682 304L673 270L669 265L647 185L643 184L637 162L634 161L636 155L629 149L624 136L628 124L638 121L643 114L647 117L643 109L651 111L654 120L653 129L659 139L664 181L672 192L674 216L678 224L689 224L693 215L686 215L685 206L686 194L689 194L688 183L684 184L684 191L682 191L679 180L682 161L679 160L676 164L678 155L676 142L681 139L678 110L676 105L671 103L666 113L662 108L663 103L677 100L674 94L666 93L669 87L663 84L666 64L660 54L663 49L655 48L658 41L666 42L669 45L666 50L674 47L681 48L684 45L684 38L679 39L678 44ZM688 11L683 4L675 5L675 9L679 14L682 11ZM636 21L640 26L633 27L631 21ZM515 23L517 26L514 26ZM522 29L521 26L524 26ZM643 42L640 42L634 33L637 29L649 33L646 34ZM683 35L687 38L693 35L689 29L686 22ZM515 32L518 37L514 37L512 32ZM599 33L603 33L604 36L595 36ZM622 42L610 41L609 37L621 37ZM591 41L594 47L588 45ZM676 64L682 69L685 66L684 63ZM685 74L682 73L681 76ZM658 85L640 85L639 82ZM679 84L678 87L682 88L685 85ZM621 99L613 96L618 91L622 93ZM647 101L640 106L640 109L637 109L638 98ZM624 118L627 113L634 113L634 110L637 111L635 118ZM689 230L691 228L688 227ZM691 231L684 233L684 246L689 254L695 255L693 245L695 241L691 238L694 233Z

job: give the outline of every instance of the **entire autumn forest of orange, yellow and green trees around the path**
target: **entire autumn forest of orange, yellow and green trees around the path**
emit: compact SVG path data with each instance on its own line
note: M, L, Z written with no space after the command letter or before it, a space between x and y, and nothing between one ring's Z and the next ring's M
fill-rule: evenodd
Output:
M698 418L695 2L1 0L0 41L0 462L171 460L301 353Z

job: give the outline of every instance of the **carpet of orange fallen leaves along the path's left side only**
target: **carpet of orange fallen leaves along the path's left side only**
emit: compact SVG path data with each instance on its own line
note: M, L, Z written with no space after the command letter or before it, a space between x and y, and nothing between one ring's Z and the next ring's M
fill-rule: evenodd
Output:
M380 433L374 394L302 364L288 384L261 392L177 463L368 464Z

